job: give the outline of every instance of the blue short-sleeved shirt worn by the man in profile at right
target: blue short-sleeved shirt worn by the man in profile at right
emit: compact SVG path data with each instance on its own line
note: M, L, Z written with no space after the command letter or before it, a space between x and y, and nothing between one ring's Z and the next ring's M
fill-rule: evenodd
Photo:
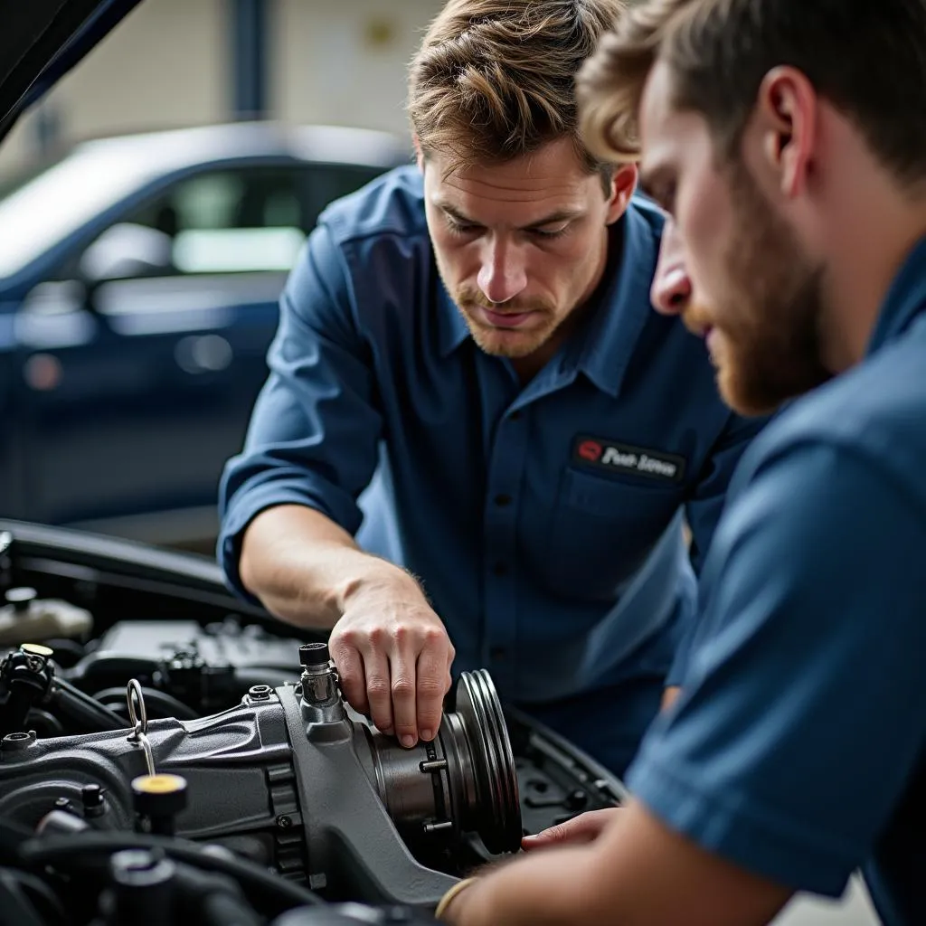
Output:
M684 694L629 782L745 869L926 923L926 241L868 356L747 451Z

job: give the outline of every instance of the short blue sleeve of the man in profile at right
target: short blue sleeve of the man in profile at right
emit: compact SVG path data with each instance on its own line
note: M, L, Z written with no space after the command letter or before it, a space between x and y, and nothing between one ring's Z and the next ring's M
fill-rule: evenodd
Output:
M730 502L676 706L629 773L671 828L775 882L840 895L916 767L926 512L887 464L793 447Z

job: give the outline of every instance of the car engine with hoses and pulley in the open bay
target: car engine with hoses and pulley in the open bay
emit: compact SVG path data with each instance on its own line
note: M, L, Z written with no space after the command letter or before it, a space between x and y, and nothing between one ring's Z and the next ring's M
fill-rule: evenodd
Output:
M406 749L346 705L323 639L195 564L6 537L0 924L430 922L525 832L623 797L484 669Z

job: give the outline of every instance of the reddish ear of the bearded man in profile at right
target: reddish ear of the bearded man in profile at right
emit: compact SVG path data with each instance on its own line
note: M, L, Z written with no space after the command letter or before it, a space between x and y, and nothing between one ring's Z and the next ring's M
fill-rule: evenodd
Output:
M754 114L763 172L786 198L806 184L817 145L817 94L801 71L773 68L763 79Z

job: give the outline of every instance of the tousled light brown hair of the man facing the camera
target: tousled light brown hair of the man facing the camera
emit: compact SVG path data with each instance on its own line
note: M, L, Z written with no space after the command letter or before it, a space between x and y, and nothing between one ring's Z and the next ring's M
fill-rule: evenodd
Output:
M408 112L425 156L451 169L504 163L570 137L593 172L610 168L579 138L575 76L625 0L450 0L408 77Z

